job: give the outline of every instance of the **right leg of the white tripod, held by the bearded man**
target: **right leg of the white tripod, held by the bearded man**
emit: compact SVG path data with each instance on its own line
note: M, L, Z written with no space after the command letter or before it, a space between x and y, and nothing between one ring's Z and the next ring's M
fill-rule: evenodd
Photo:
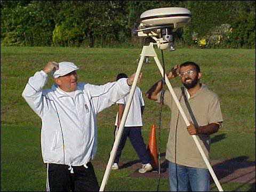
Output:
M180 105L180 102L179 102L177 96L175 95L175 93L174 93L174 91L173 91L173 89L172 89L172 85L171 85L169 79L167 78L167 75L166 75L166 74L163 74L163 73L164 73L164 70L163 70L163 67L162 67L160 61L158 60L157 57L154 57L154 60L155 60L155 62L156 62L156 65L157 65L157 67L158 67L158 69L159 69L161 75L162 75L162 76L165 76L166 85L167 85L167 87L168 87L170 93L172 94L172 97L173 97L173 99L174 99L174 101L175 101L177 107L179 108L179 111L180 111L180 113L181 113L181 116L183 117L183 119L184 119L186 125L189 126L190 123L189 123L189 121L188 121L188 119L187 119L187 117L186 117L186 115L185 115L185 113L184 113L184 111L183 111L183 109L182 109L182 107L181 107L181 105ZM201 145L200 145L200 143L199 143L199 141L198 141L196 135L192 135L192 137L193 137L193 139L194 139L194 141L195 141L195 143L196 143L196 146L197 146L197 148L198 148L198 150L199 150L199 152L200 152L202 158L204 159L204 162L205 162L205 164L206 164L206 166L207 166L207 169L208 169L209 172L211 173L211 176L212 176L212 179L213 179L214 182L215 182L215 185L217 186L217 188L219 189L219 191L223 191L223 189L222 189L222 187L221 187L221 185L220 185L220 182L219 182L219 180L217 179L217 177L216 177L216 175L215 175L215 173L214 173L214 171L213 171L213 169L212 169L212 166L211 166L211 164L209 163L207 157L205 156L205 153L204 153L204 151L203 151L203 149L202 149L202 147L201 147Z

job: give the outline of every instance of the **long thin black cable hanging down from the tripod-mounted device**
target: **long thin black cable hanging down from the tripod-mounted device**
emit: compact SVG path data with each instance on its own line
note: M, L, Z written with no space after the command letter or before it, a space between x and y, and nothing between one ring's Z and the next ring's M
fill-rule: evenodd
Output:
M165 64L164 64L164 54L163 50L161 50L162 53L162 62L163 62L163 86L161 90L161 98L160 98L160 109L159 109L159 116L158 116L158 182L157 182L157 188L156 191L159 189L160 185L160 179L161 179L161 162L160 162L160 151L161 151L161 117L162 117L162 109L163 109L163 101L164 101L164 85L165 85Z

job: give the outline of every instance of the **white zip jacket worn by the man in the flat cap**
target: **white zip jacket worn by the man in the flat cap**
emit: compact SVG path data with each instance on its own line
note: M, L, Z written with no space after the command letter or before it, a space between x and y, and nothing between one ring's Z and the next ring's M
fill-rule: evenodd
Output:
M96 115L130 91L126 78L105 85L78 83L75 99L55 84L44 89L47 74L30 77L22 97L42 119L41 148L44 163L84 165L97 150Z

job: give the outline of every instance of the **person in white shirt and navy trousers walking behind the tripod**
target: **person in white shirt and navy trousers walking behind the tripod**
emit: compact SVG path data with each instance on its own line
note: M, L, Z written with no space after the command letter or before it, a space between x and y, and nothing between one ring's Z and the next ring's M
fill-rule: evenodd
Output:
M127 75L123 73L118 74L116 77L116 81L122 78L127 78ZM114 137L116 137L117 135L118 127L120 126L124 108L128 98L129 98L129 94L126 95L125 98L120 99L116 102L118 105L118 113L116 115ZM132 146L135 149L136 153L138 154L140 161L142 163L142 167L141 169L139 169L139 173L146 173L153 169L153 167L151 166L151 159L148 155L146 145L141 135L142 114L143 114L144 107L145 107L145 103L142 97L142 92L140 88L136 86L133 99L131 102L131 107L124 125L122 137L121 137L121 140L119 141L119 146L117 148L116 156L114 159L114 163L111 166L111 169L113 170L119 169L118 167L119 158L125 146L127 137L129 137L132 143Z

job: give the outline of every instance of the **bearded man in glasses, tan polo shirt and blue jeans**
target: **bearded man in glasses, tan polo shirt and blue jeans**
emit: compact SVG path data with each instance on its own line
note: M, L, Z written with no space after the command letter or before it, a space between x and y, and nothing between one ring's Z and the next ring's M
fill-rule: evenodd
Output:
M174 66L167 78L180 76L185 87L174 87L190 125L187 126L169 90L164 91L163 103L171 109L171 127L166 145L169 161L171 191L210 191L210 174L191 135L197 135L206 157L209 159L210 134L218 132L223 122L217 94L201 84L199 66L191 61ZM146 93L146 97L161 101L163 81L158 81ZM209 159L210 160L210 159Z

